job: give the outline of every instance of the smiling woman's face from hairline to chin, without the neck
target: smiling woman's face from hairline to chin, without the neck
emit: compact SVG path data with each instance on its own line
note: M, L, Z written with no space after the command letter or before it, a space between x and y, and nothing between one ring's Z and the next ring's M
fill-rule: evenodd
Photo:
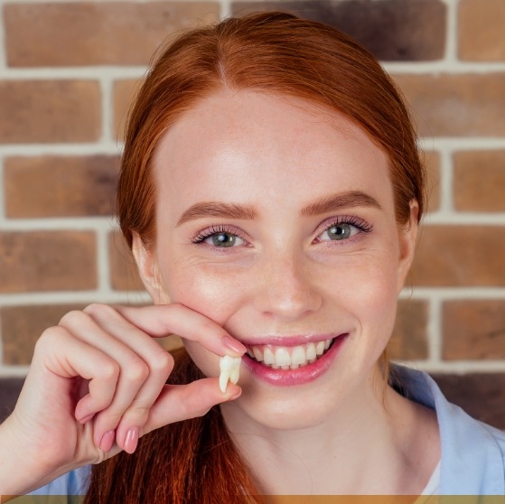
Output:
M141 261L154 302L206 315L257 358L243 359L228 414L294 429L375 394L416 205L399 228L388 157L368 135L304 100L228 91L170 128L154 170L156 242ZM218 356L186 346L219 375Z

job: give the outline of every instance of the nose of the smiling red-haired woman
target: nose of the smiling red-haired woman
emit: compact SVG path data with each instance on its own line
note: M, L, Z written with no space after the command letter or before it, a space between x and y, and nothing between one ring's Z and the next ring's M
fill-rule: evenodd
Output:
M286 321L317 311L323 298L316 288L312 268L304 257L265 257L257 271L257 310Z

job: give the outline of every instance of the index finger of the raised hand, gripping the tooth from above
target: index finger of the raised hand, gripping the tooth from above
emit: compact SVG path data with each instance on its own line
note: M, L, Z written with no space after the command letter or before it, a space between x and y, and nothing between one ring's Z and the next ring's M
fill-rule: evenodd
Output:
M198 341L202 347L221 357L240 357L247 351L218 323L181 303L114 308L126 321L154 338L177 334L186 340Z

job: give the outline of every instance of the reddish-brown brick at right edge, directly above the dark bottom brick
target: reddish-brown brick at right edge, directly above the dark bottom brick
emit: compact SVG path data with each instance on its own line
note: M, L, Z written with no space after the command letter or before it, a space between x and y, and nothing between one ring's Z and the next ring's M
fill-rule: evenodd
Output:
M448 301L443 313L444 359L505 359L505 300Z

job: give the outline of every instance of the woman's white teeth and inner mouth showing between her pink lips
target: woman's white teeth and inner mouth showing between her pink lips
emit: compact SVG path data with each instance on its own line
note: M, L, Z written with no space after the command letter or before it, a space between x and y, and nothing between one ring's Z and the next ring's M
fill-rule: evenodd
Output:
M304 368L323 357L335 340L311 341L293 347L252 345L248 346L248 356L270 369Z

